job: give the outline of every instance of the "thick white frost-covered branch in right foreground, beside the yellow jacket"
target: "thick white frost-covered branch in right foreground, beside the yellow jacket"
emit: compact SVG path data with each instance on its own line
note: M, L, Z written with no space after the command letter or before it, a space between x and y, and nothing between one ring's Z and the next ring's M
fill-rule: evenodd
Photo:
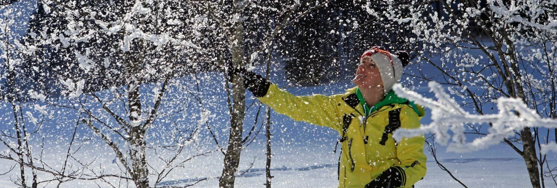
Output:
M396 140L425 133L435 133L439 144L448 144L448 151L471 152L499 144L505 138L514 136L515 131L521 131L526 127L557 128L557 120L540 117L535 110L528 108L519 98L501 97L497 100L499 113L474 115L457 105L456 101L438 83L429 82L429 87L438 100L423 97L416 92L402 88L400 85L393 87L397 95L429 108L432 114L432 122L429 125L413 130L399 129L395 131L393 137ZM491 123L492 126L487 135L466 142L464 135L466 123ZM452 132L452 135L449 131ZM544 152L548 150L557 151L555 146L557 145L542 145L542 148Z

